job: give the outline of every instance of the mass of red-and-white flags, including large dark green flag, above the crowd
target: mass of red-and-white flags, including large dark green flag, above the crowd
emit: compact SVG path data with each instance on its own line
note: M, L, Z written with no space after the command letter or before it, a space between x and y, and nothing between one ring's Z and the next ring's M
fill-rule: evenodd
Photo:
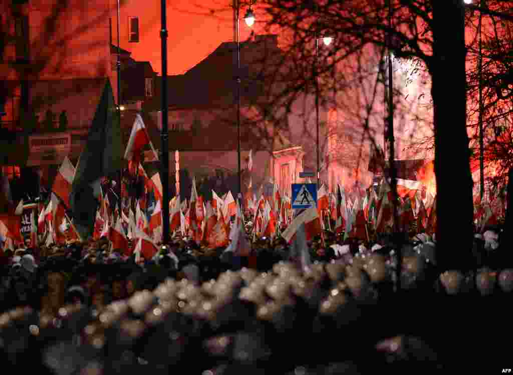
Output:
M76 168L65 157L52 185L49 200L40 206L39 213L30 217L30 243L37 241L47 245L62 244L101 237L108 238L112 248L120 249L125 255L135 254L138 260L150 259L157 252L157 245L163 240L162 207L163 191L161 176L155 173L148 177L140 155L149 146L157 158L150 142L142 117L135 118L130 140L124 157L129 164L129 172L139 176L144 182L144 193L138 200L121 186L122 194L116 202L110 202L107 191L101 182L106 176L121 169L120 129L114 121L112 89L106 84L93 123ZM231 191L221 196L212 190L212 199L205 200L196 190L195 178L191 187L190 201L181 201L179 196L169 202L169 231L181 233L207 248L226 247L239 256L249 256L251 244L246 238L248 222L250 238L283 238L294 243L299 249L298 257L306 266L303 254L305 241L322 234L323 229L343 234L344 239L356 238L369 241L374 233L383 233L393 227L393 195L385 179L376 190L346 192L337 184L333 192L326 186L318 187L318 202L293 217L291 198L273 183L272 194L265 196L262 188L258 195L252 186L252 150L248 157L249 184L244 202L235 201ZM422 176L430 175L424 171ZM2 182L5 184L5 178ZM9 182L7 189L9 193ZM418 231L434 233L437 224L436 191L426 191L424 181L397 180L398 213L400 230L407 231L413 223ZM485 195L476 205L476 224L484 229L497 224L504 216L505 193L492 199ZM149 197L149 198L148 198ZM12 207L7 194L4 201ZM243 206L241 206L243 205ZM7 215L0 215L0 239L4 247L22 243L18 209ZM21 207L21 209L20 209ZM19 211L19 212L18 212ZM327 220L325 220L327 219Z

